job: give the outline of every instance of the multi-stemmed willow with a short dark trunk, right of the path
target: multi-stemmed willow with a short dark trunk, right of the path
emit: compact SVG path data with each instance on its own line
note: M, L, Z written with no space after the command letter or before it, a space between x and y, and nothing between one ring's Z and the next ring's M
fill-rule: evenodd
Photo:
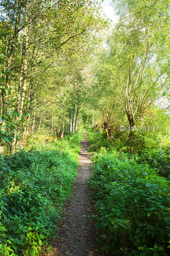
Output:
M163 1L116 2L120 20L108 44L131 129L169 93L169 12Z

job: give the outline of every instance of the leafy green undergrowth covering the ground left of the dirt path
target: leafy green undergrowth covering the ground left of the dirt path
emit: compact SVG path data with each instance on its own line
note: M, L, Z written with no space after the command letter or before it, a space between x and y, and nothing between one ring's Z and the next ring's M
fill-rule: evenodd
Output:
M77 175L82 132L0 156L0 255L39 255Z

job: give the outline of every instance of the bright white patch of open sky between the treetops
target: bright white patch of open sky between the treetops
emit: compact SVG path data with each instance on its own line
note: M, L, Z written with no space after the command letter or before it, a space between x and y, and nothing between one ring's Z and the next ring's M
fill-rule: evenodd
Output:
M101 0L99 2L101 3ZM104 0L101 3L101 6L103 9L102 12L107 16L107 18L112 20L112 23L114 25L118 20L118 16L115 14L114 8L111 5L111 3L112 3L112 0Z

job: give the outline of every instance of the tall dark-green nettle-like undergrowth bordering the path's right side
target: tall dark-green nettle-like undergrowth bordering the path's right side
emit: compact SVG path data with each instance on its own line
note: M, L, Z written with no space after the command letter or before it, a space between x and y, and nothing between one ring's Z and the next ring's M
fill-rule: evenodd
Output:
M88 138L94 149L96 134ZM140 157L113 146L92 154L89 186L99 210L93 217L109 255L170 255L170 182Z

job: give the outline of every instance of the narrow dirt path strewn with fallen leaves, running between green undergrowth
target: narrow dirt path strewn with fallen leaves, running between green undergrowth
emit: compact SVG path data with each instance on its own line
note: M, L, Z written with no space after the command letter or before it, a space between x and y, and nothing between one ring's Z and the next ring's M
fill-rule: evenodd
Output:
M101 256L96 244L96 230L92 219L94 203L90 199L87 181L90 178L91 158L89 143L84 133L79 153L78 178L70 201L65 205L65 213L58 230L58 238L53 240L53 248L59 256Z

